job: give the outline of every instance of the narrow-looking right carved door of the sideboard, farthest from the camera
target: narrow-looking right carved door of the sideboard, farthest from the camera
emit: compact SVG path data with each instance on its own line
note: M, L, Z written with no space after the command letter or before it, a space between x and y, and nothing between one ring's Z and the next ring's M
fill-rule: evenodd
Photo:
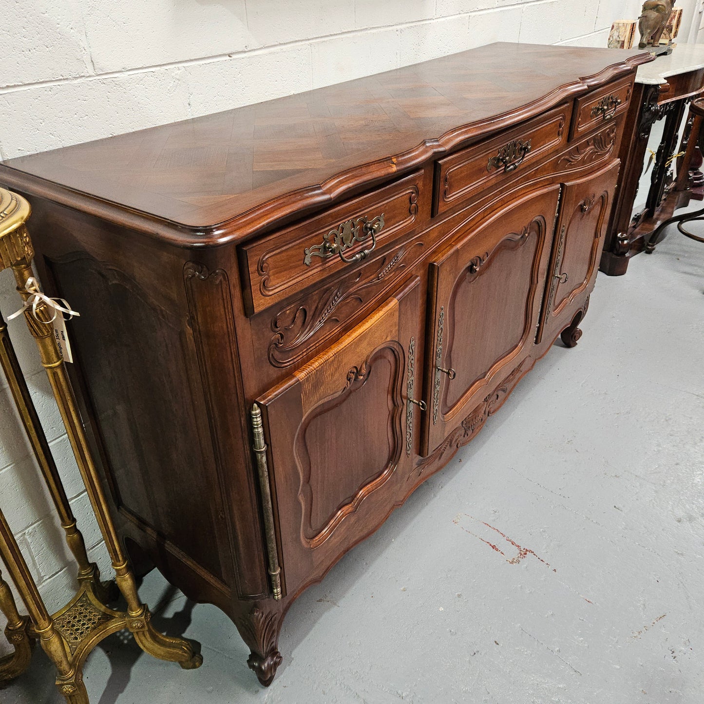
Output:
M572 303L593 289L619 167L620 161L612 161L596 174L564 184L536 343L553 341L570 325Z

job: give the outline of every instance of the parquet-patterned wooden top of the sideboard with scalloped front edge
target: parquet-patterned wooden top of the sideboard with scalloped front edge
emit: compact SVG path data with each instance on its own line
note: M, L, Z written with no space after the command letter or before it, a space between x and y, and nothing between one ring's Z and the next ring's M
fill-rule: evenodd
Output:
M0 164L0 181L182 246L248 237L652 57L496 43Z

